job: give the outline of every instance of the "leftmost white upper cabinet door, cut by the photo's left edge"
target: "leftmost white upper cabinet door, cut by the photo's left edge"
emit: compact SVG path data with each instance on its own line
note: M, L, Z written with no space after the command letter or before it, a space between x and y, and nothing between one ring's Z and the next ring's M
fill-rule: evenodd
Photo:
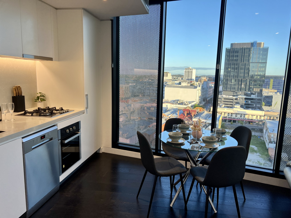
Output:
M22 57L20 0L0 0L0 55Z

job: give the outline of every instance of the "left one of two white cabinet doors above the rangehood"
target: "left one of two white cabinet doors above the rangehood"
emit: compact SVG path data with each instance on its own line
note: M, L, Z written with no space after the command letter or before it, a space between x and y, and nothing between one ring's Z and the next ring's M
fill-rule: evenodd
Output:
M23 54L39 56L37 1L21 0L21 30Z

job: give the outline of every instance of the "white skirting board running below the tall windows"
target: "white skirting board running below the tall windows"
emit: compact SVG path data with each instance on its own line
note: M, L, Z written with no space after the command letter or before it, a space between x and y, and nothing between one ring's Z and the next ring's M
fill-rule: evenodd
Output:
M101 147L100 153L102 153L102 152L110 153L110 154L117 154L117 155L132 157L132 158L141 158L141 155L138 152L126 151L126 150L115 149L115 148ZM157 157L157 156L155 156L155 157ZM184 164L185 162L181 161L181 163ZM187 167L190 167L189 162L188 162ZM257 174L251 174L251 173L245 173L244 179L254 181L254 182L289 188L289 185L285 179L272 178L269 176L261 176L261 175L257 175Z

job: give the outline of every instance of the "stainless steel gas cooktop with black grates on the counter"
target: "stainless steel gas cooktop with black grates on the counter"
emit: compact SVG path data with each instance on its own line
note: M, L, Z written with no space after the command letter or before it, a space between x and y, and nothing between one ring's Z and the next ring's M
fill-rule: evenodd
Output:
M56 117L59 115L62 115L64 113L72 112L74 110L69 110L69 109L63 109L63 108L58 108L56 107L50 108L50 107L45 107L45 108L38 108L33 111L27 111L25 110L21 114L17 114L16 116L30 116L30 117Z

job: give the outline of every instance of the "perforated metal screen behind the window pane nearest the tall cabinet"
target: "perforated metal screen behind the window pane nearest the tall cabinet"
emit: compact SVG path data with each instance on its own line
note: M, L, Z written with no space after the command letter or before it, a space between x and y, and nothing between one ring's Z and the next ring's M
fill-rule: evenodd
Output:
M140 131L155 146L160 13L120 17L119 142L139 145Z

